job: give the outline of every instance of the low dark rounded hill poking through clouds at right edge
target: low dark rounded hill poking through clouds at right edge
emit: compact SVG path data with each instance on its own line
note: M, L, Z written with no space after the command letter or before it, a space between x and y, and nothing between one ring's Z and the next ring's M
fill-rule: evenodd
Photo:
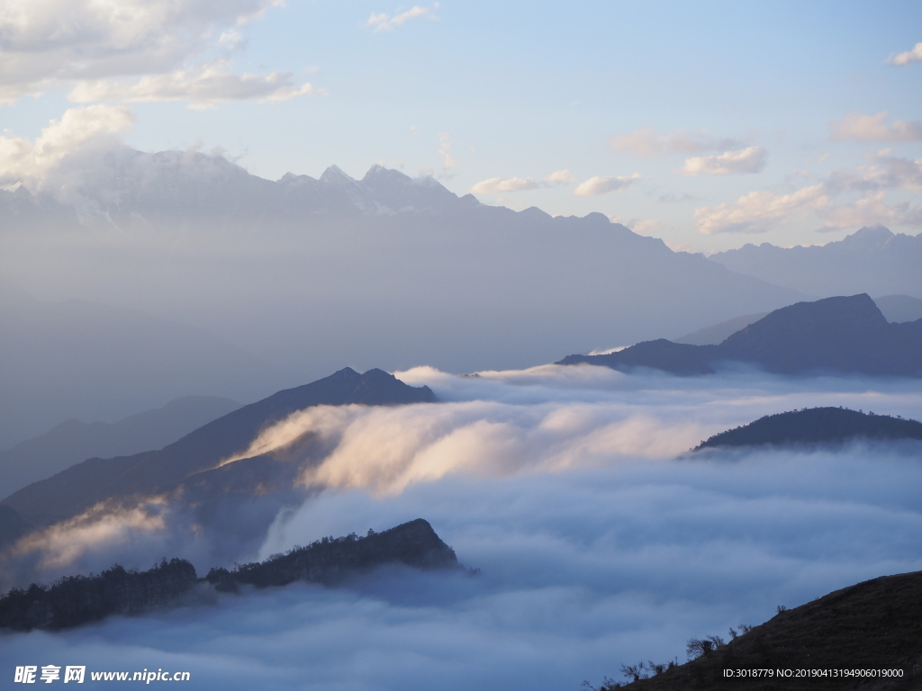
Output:
M922 439L922 423L847 408L810 408L764 416L701 442L694 451L724 446L840 444L853 439Z

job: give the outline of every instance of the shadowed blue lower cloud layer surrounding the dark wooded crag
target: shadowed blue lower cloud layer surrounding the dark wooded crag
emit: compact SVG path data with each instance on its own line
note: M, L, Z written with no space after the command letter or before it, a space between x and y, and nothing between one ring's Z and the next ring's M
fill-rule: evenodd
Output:
M423 516L482 574L385 569L341 590L221 596L7 637L0 664L117 660L228 689L598 684L622 662L683 662L688 638L726 637L778 604L922 568L920 470L911 454L854 447L327 492L278 521L264 556Z

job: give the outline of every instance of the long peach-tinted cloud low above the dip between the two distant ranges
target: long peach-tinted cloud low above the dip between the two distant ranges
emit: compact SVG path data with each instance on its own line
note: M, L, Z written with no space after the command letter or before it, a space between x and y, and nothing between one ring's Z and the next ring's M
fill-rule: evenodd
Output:
M790 194L751 192L732 205L701 206L694 210L698 231L715 233L763 233L809 211L828 205L824 185L813 185Z

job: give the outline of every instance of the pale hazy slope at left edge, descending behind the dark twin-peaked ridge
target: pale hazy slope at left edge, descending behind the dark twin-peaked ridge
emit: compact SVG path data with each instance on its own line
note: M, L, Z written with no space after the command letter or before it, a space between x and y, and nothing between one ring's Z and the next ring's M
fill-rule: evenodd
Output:
M82 300L33 299L4 281L0 323L4 451L68 419L113 422L190 395L254 401L293 376L193 326Z

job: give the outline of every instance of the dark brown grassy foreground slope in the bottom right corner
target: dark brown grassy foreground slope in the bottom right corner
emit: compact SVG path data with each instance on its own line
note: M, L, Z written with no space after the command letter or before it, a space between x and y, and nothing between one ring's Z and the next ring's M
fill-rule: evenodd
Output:
M707 651L701 657L624 687L636 691L916 689L922 684L920 621L922 572L883 576L779 612L725 645L705 640ZM771 676L727 678L727 669L770 670ZM778 669L792 670L792 677L779 678ZM798 678L793 675L797 670L821 673ZM901 675L833 678L822 670L900 670Z

